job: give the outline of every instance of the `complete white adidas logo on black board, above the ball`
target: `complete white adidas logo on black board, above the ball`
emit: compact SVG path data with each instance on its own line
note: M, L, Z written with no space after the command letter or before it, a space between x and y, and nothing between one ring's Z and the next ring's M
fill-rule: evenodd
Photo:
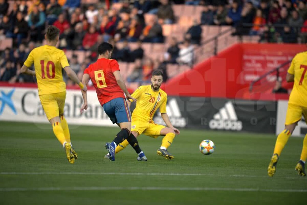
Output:
M218 113L213 115L209 127L210 129L240 131L242 130L242 122L238 120L232 103L227 102Z

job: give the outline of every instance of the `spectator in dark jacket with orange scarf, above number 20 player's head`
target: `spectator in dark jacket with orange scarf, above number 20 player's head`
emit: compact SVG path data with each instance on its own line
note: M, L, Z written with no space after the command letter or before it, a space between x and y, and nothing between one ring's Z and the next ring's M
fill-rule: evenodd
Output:
M162 27L158 23L157 18L150 19L150 22L143 30L143 35L140 38L144 42L151 43L162 43L163 35L162 35Z

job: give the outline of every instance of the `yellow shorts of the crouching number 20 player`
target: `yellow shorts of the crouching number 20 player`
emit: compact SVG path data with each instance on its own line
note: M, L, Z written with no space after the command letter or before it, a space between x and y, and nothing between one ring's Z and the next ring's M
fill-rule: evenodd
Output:
M133 120L131 122L131 132L137 131L139 135L144 134L153 138L160 136L160 131L165 128L163 125L149 123L142 120Z

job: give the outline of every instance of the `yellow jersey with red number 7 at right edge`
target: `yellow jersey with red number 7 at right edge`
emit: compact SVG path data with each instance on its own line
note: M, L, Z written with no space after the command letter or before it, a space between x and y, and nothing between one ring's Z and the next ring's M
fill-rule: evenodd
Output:
M294 85L290 94L289 104L307 107L307 52L296 54L288 73L294 75Z

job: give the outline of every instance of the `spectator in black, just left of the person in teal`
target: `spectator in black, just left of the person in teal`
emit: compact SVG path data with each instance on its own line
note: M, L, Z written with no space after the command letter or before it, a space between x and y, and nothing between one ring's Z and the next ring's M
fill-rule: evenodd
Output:
M27 38L29 31L28 23L24 20L23 14L21 12L17 13L17 20L15 22L15 28L13 32L9 32L8 35L10 38L17 39L17 45L19 46L22 42L22 39Z

